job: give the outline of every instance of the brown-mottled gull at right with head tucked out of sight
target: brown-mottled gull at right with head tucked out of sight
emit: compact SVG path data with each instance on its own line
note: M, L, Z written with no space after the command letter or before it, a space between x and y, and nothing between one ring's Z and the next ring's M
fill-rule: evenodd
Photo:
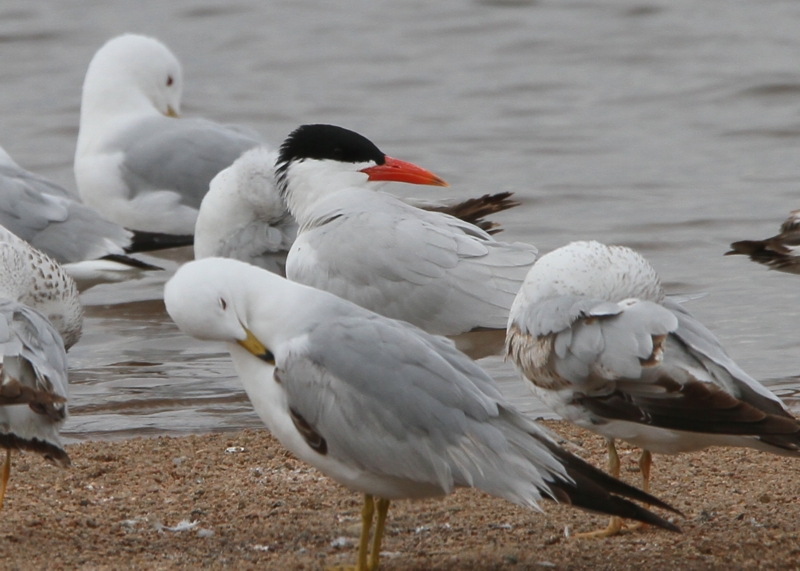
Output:
M573 242L531 268L508 321L507 356L556 413L651 453L740 446L797 456L800 423L622 246ZM612 520L596 535L619 532Z

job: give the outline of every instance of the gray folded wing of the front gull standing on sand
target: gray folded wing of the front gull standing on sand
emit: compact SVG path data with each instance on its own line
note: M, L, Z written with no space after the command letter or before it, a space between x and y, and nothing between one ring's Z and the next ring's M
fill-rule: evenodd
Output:
M277 363L296 422L347 465L445 491L473 485L529 503L520 490L564 477L550 441L530 437L543 432L506 408L486 373L416 332L360 312L325 320Z

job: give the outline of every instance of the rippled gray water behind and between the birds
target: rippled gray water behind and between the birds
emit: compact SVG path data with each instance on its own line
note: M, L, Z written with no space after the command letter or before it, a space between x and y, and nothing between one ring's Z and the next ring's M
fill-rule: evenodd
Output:
M0 145L74 189L86 66L114 35L151 34L184 64L185 115L276 145L300 123L341 124L451 183L414 192L516 192L506 239L637 248L671 292L708 292L692 311L797 408L800 278L722 254L800 207L798 29L800 4L768 0L6 0ZM84 295L71 436L259 425L223 347L164 314L168 273Z

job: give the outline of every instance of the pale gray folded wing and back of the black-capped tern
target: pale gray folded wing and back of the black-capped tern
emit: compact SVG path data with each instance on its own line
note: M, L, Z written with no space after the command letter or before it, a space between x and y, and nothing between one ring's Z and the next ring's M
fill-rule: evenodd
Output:
M290 279L437 334L505 327L536 248L379 193L339 194L340 209L301 228Z

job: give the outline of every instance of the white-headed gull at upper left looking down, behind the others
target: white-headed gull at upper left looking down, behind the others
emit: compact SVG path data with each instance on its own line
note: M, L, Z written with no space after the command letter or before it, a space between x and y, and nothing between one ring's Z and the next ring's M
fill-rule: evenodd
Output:
M191 238L211 179L261 140L239 127L178 118L182 91L178 59L154 38L124 34L97 51L75 151L87 205L126 228Z

